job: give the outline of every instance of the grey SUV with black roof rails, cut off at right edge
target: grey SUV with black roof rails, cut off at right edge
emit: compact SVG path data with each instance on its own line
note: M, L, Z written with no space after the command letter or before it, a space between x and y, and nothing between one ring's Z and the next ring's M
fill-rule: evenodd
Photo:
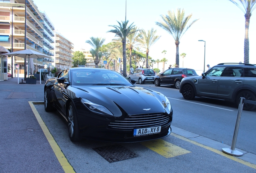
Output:
M202 76L187 77L180 83L184 99L208 97L222 99L239 105L239 98L256 101L256 65L244 63L221 63L202 73ZM253 110L256 105L244 104L244 110Z

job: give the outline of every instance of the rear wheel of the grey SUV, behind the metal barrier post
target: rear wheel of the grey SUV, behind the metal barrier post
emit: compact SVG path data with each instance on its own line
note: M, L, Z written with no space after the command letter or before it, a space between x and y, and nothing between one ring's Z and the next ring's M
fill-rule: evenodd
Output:
M255 97L254 93L252 93L251 91L242 91L242 92L237 94L237 97L236 97L236 100L235 100L237 106L239 106L240 97L244 97L246 100L256 101L256 97ZM249 103L244 103L243 110L252 111L255 108L256 108L256 105L249 104Z

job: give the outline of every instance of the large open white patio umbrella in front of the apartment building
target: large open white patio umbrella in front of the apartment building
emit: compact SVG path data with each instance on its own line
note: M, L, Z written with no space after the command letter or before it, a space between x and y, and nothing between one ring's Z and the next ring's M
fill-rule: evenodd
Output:
M19 50L16 52L10 52L10 53L6 53L3 55L18 56L21 58L51 58L51 56L47 56L45 54L42 54L42 53L34 51L34 50L30 50L30 49ZM33 60L31 62L33 62ZM33 66L34 66L34 64L33 64ZM28 64L28 67L30 68L29 64Z

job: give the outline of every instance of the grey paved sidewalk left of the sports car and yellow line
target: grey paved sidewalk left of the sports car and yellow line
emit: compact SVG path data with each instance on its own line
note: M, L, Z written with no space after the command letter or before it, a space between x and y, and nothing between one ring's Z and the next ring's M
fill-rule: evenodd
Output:
M64 172L29 106L43 101L43 87L0 81L0 172Z

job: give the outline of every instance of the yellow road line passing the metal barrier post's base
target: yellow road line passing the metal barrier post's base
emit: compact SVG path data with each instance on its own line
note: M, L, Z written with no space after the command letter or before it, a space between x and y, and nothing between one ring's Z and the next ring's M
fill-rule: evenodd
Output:
M248 167L251 167L251 168L253 168L253 169L256 169L256 165L254 165L253 163L250 163L250 162L248 162L248 161L244 161L244 160L239 159L239 158L237 158L237 157L235 157L235 156L232 156L232 155L225 154L225 153L223 153L222 151L219 151L219 150L217 150L217 149L214 149L214 148L208 147L208 146L206 146L206 145L200 144L200 143L198 143L198 142L196 142L196 141L192 141L192 140L190 140L190 139L187 139L187 138L182 137L182 136L180 136L180 135L177 135L177 134L175 134L175 133L171 133L171 135L174 136L174 137L177 137L177 138L179 138L179 139L182 139L183 141L187 141L187 142L192 143L192 144L194 144L194 145L197 145L197 146L199 146L199 147L208 149L208 150L210 150L210 151L213 151L214 153L217 153L217 154L219 154L219 155L222 155L222 156L224 156L224 157L227 157L227 158L229 158L229 159L231 159L231 160L233 160L233 161L236 161L236 162L238 162L238 163L242 163L243 165L246 165L246 166L248 166Z

